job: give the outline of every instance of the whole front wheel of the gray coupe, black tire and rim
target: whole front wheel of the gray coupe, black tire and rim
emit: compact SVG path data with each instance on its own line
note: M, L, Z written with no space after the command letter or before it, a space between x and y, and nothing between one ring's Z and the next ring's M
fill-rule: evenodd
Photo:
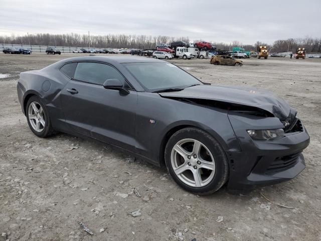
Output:
M228 179L223 148L215 138L197 128L184 128L170 138L165 162L175 182L193 193L216 192Z

